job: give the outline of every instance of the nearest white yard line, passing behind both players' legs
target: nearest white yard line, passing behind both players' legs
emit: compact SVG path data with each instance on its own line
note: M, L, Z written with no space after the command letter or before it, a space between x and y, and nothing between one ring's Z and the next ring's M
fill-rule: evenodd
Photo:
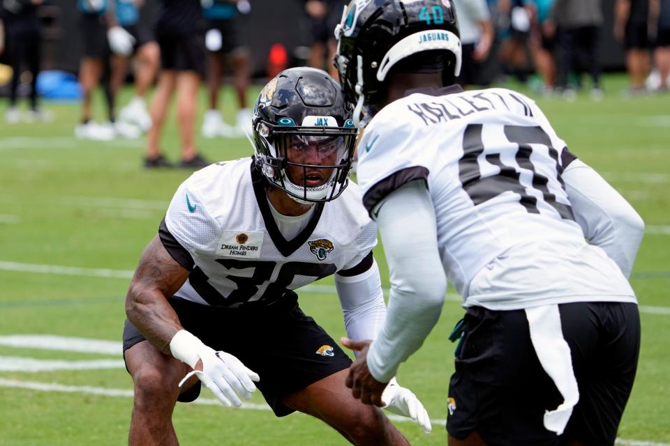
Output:
M40 392L63 392L63 393L76 393L76 394L91 394L91 395L100 395L102 397L124 397L132 398L133 390L126 389L107 389L105 387L89 387L89 386L75 386L75 385L62 385L56 383L38 383L35 381L22 381L14 379L4 379L0 378L0 387L11 387L17 389L27 389L27 390L37 390ZM206 406L221 406L221 403L216 399L212 398L198 398L194 401L195 404L203 404ZM242 403L241 408L243 410L271 410L267 404L254 404L254 403ZM387 414L387 416L394 420L395 422L405 422L413 423L407 417L401 417L399 415ZM431 423L436 426L445 426L447 420L441 419L431 419ZM670 446L668 443L655 443L652 441L644 440L626 440L625 438L617 438L616 444L621 446Z

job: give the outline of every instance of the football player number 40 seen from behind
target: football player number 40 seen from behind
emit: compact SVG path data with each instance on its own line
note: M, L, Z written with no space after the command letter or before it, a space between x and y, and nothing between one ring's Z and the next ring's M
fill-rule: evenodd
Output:
M357 178L392 283L377 339L343 340L361 352L354 396L382 404L438 321L448 277L466 309L449 444L612 445L639 353L627 281L639 215L533 100L454 84L451 1L352 1L336 36L345 97L367 123Z

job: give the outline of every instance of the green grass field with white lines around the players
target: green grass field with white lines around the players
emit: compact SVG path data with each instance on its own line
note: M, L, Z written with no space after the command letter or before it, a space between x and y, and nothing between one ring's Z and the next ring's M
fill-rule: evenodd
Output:
M647 224L632 276L641 305L642 350L618 443L669 445L670 96L625 98L618 93L624 87L623 77L606 77L608 95L602 102L584 95L576 102L547 99L539 105L572 152L610 180ZM128 95L124 91L121 105ZM225 90L223 100L230 121L232 91ZM204 91L200 103L198 125ZM97 106L101 118L100 102ZM47 103L45 108L54 113L53 123L0 121L0 445L123 445L133 401L120 352L8 346L3 339L41 334L120 341L131 272L189 172L144 171L143 139L78 141L73 128L79 106ZM5 110L3 102L0 118ZM171 116L163 147L174 160L174 111ZM245 139L198 137L198 146L213 161L251 154ZM388 286L381 247L376 254ZM332 285L331 279L322 282ZM341 311L327 290L303 291L301 306L338 339L344 334ZM426 344L399 372L400 382L422 399L435 420L429 436L415 424L396 422L413 444L447 444L439 424L447 413L453 369L454 345L447 334L461 313L459 302L449 299ZM45 371L45 364L73 369ZM96 364L102 368L83 369ZM38 371L31 371L34 366ZM200 399L207 403L213 397L204 391ZM259 395L251 403L259 406L231 410L180 404L174 424L181 443L345 444L310 417L280 420L262 410Z

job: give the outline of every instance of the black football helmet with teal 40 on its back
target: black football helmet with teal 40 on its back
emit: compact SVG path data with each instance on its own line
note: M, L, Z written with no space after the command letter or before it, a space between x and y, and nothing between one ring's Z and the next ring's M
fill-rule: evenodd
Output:
M461 38L451 0L352 0L335 29L335 66L345 99L356 104L354 121L363 125L385 91L389 70L418 52L454 54L447 69L461 72ZM363 118L362 118L363 117Z

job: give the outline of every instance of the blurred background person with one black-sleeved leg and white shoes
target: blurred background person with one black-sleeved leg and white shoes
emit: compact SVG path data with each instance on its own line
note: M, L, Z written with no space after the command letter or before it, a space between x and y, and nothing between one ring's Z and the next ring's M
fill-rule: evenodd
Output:
M96 123L91 119L91 98L103 76L109 72L110 47L107 43L107 20L105 0L78 0L80 11L79 26L84 44L84 52L79 67L79 82L82 85L82 121L75 127L75 137L96 141L110 141L116 136L110 125ZM110 121L114 121L111 107L112 98L107 82L105 98Z

